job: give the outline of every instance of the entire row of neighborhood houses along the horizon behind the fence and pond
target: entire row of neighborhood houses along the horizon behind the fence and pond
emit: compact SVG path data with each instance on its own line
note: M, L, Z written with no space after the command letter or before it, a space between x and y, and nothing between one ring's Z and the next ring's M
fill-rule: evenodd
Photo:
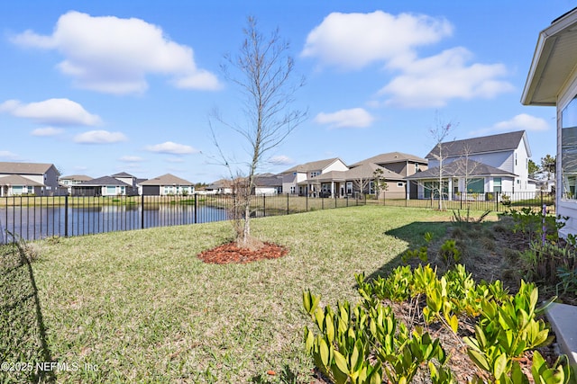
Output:
M524 130L435 146L424 158L401 152L372 156L353 165L338 157L296 165L280 174L258 174L253 193L309 197L444 199L463 195L492 198L495 192L536 192L528 174L531 156ZM442 183L439 183L442 180ZM205 193L233 192L231 180L208 185ZM440 187L439 187L440 186ZM98 178L60 176L51 164L0 162L0 196L14 195L170 195L192 194L194 183L173 174L139 179L119 173Z

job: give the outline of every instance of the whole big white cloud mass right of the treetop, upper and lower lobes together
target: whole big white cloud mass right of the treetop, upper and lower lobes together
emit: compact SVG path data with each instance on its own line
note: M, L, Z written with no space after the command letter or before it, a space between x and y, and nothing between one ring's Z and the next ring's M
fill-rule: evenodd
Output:
M301 56L343 69L380 64L393 77L379 96L394 107L439 108L453 99L492 98L513 90L502 79L504 65L472 62L463 47L419 58L417 49L452 34L446 19L423 14L331 13L308 34Z

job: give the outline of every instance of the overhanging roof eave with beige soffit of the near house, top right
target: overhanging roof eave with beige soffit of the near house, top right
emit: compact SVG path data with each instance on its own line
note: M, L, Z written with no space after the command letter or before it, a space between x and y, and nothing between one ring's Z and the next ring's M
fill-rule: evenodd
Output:
M553 106L557 103L557 96L577 63L575 25L577 8L564 13L539 33L521 95L524 105Z

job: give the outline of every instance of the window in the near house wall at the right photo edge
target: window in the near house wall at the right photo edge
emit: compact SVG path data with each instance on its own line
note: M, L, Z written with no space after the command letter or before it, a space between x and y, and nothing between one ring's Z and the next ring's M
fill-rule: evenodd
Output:
M577 184L577 97L561 112L561 172L563 199L575 199Z

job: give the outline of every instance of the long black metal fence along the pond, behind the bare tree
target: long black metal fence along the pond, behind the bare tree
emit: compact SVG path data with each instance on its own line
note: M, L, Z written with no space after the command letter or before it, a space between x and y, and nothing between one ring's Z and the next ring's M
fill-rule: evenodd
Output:
M255 218L364 204L362 199L252 196ZM234 196L10 196L0 198L0 243L231 219Z

